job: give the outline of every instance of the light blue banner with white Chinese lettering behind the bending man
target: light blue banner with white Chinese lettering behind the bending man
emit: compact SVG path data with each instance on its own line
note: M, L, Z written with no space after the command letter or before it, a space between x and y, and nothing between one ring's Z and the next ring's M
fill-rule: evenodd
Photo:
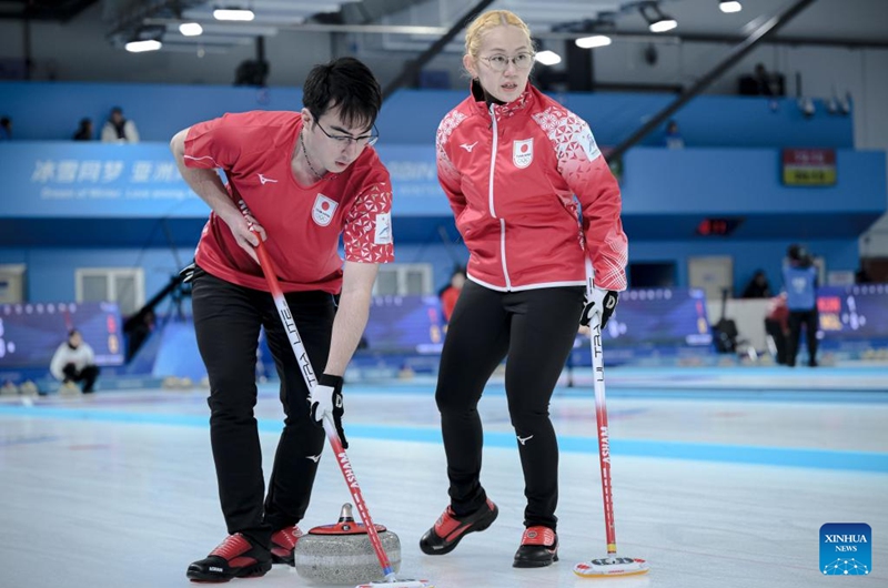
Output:
M379 146L394 213L450 215L434 145ZM209 207L182 180L165 143L0 144L0 212L20 219L203 219Z

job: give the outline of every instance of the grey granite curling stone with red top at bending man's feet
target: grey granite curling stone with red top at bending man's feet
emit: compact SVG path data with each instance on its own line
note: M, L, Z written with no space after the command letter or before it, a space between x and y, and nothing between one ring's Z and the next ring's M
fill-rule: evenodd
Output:
M392 569L401 567L397 535L375 525ZM296 541L293 550L296 572L313 584L352 585L383 579L382 566L363 523L355 523L352 505L342 505L335 525L314 527Z

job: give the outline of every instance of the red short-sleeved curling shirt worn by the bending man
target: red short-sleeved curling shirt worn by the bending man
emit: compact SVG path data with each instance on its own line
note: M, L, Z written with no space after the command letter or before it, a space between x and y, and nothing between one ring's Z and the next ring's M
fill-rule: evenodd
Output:
M392 183L376 151L365 148L343 173L301 185L291 171L301 129L296 112L225 114L189 130L185 165L224 171L232 197L243 199L265 229L265 246L284 292L337 294L343 265L340 234L346 261L394 258ZM195 260L216 277L269 290L260 266L215 213L203 227Z

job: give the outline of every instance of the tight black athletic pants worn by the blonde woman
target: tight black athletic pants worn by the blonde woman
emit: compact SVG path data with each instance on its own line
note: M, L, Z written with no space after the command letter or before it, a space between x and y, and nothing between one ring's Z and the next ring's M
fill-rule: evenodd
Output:
M447 327L435 392L457 516L478 509L487 498L481 486L477 404L508 355L506 397L524 470L524 525L555 529L558 443L548 403L576 337L583 293L573 286L506 293L465 283Z

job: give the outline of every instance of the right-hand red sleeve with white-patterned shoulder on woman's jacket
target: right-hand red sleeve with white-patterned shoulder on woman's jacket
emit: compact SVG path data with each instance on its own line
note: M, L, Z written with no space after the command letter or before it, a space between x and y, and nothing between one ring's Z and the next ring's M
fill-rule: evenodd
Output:
M626 290L628 240L619 215L619 185L586 122L573 112L547 109L537 118L558 158L558 172L576 194L583 214L586 251L595 267L595 285Z

